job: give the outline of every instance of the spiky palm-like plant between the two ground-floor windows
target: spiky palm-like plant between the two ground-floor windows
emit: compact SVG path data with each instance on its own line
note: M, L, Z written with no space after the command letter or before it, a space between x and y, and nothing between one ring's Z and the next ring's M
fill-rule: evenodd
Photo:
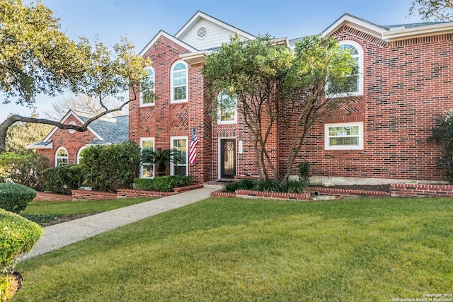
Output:
M152 163L156 167L156 175L164 176L170 163L178 165L183 162L183 156L177 149L161 148L154 150L144 149L142 151L142 163Z

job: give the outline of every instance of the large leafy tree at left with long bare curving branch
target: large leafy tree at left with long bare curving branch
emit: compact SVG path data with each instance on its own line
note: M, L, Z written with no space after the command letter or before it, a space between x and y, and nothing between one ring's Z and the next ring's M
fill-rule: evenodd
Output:
M84 37L76 44L59 31L57 18L39 1L25 6L20 0L0 0L0 24L0 91L5 95L4 103L15 98L19 105L33 107L38 93L57 95L69 89L96 98L104 109L81 126L11 115L0 124L0 152L6 149L8 127L16 122L84 132L93 120L122 110L137 98L140 84L149 82L143 66L148 66L150 60L134 54L134 45L126 39L113 50L97 39L94 46ZM150 91L149 85L141 88ZM118 96L129 89L130 98ZM121 105L108 108L106 98L116 98Z

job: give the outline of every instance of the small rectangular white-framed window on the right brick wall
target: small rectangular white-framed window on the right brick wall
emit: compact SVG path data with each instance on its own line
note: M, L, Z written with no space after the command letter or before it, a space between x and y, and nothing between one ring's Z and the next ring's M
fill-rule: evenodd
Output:
M362 150L363 122L325 124L326 150Z

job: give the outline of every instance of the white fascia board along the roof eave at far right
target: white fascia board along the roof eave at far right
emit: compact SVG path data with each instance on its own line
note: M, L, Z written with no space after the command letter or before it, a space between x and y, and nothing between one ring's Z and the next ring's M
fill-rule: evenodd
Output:
M453 33L453 22L418 26L415 28L396 28L384 33L386 40L403 40L411 37L427 35L440 35L442 33Z

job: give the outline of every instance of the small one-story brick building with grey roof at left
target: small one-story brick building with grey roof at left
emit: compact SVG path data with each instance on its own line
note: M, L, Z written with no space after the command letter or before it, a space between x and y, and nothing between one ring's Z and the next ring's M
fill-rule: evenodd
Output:
M63 124L81 126L89 118L88 113L69 110L60 120ZM88 125L86 132L55 127L42 141L25 146L36 149L38 153L49 158L50 165L75 165L79 163L81 152L93 144L120 144L129 141L129 117L101 117Z

